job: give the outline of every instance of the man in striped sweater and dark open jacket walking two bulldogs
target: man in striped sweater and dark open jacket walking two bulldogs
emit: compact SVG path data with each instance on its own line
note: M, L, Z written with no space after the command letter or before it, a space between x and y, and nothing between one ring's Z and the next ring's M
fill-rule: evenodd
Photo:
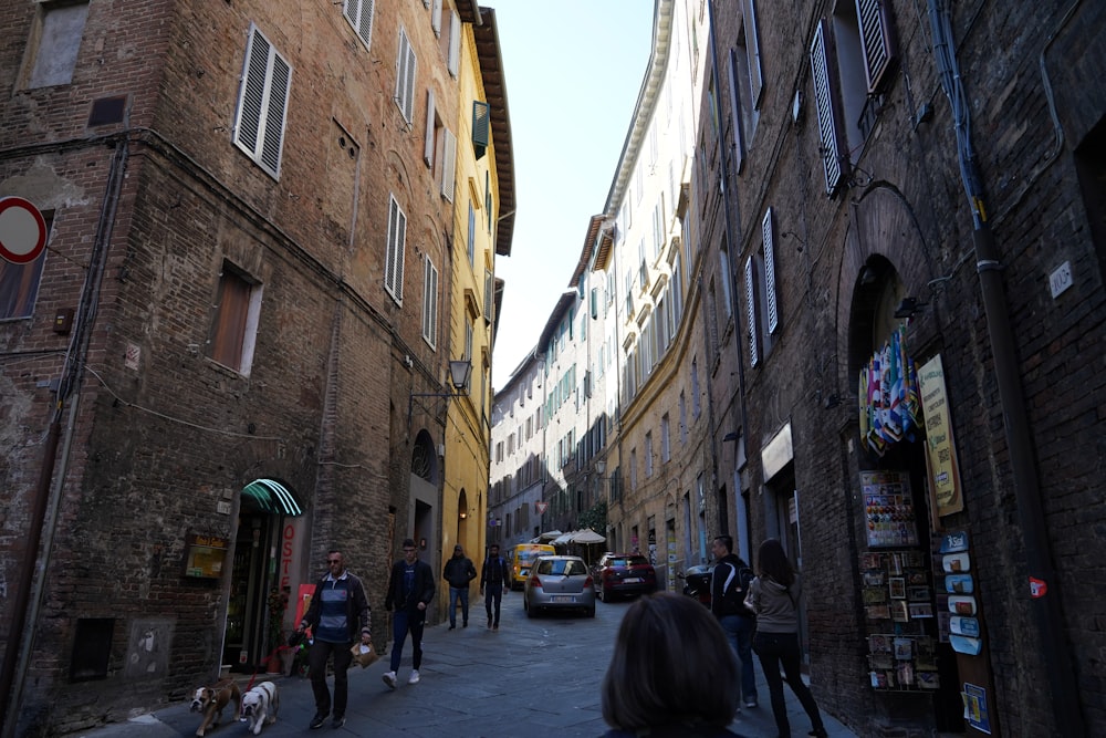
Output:
M314 635L307 651L307 672L311 675L311 690L315 695L315 717L310 728L323 727L331 713L331 693L326 688L326 659L334 657L334 720L331 726L345 725L345 708L348 696L346 673L353 662L353 642L361 631L361 642L372 642L368 625L368 599L365 585L346 570L342 552L337 549L326 554L326 575L315 584L307 612L296 628L303 633L307 627Z

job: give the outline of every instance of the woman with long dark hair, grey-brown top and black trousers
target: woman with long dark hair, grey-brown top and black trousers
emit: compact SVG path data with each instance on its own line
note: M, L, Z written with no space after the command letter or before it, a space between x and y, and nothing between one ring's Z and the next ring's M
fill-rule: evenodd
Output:
M818 705L800 672L802 654L799 649L799 580L791 568L783 544L774 538L761 543L757 552L757 571L760 575L749 585L745 606L757 613L757 635L753 651L764 669L764 679L772 696L772 714L780 738L791 737L787 723L787 704L783 697L783 679L799 697L812 729L808 735L826 738ZM784 677L780 677L780 665Z

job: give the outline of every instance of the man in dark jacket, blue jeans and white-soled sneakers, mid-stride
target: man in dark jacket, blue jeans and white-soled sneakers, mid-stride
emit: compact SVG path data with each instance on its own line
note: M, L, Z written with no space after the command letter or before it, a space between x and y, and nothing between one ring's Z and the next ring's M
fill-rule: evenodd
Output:
M418 684L418 668L422 665L422 628L426 625L426 609L434 600L434 572L430 564L419 561L418 548L411 539L404 539L404 558L392 567L388 578L388 594L384 609L395 612L392 623L392 671L383 677L384 684L393 689L398 684L399 659L404 655L404 642L411 636L411 675L407 684Z

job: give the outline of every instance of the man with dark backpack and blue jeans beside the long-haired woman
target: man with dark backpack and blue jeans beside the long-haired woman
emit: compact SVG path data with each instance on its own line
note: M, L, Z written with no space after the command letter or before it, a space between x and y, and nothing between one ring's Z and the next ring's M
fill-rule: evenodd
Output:
M716 537L710 550L717 562L710 580L710 611L741 661L741 698L745 707L757 707L757 674L753 672L757 616L745 606L753 570L733 553L733 539L729 536Z

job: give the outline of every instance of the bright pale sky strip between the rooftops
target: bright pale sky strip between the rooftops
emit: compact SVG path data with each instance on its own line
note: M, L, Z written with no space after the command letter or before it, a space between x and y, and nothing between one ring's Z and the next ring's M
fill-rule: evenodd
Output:
M481 7L484 3L481 2ZM653 0L488 0L499 27L518 205L492 386L534 347L603 211L653 45Z

